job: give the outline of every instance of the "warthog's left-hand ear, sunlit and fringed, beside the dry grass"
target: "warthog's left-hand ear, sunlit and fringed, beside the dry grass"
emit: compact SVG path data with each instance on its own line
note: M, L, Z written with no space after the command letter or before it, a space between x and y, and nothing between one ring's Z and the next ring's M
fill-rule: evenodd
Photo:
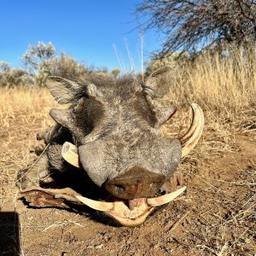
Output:
M67 104L84 95L84 85L60 77L49 77L46 80L48 87L55 101Z

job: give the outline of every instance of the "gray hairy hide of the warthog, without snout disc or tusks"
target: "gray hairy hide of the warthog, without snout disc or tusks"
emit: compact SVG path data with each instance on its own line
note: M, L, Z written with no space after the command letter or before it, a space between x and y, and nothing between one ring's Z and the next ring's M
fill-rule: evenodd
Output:
M47 87L55 100L69 103L70 107L50 110L56 125L44 136L49 143L48 161L41 164L44 175L38 164L29 172L21 171L20 187L24 189L36 183L38 177L47 177L47 168L67 171L71 166L61 157L61 145L66 141L79 148L84 172L98 186L132 166L162 174L166 179L171 177L181 160L181 145L159 131L175 111L155 104L168 89L163 79L168 79L165 70L145 83L138 83L132 76L113 79L94 75L77 82L49 77Z

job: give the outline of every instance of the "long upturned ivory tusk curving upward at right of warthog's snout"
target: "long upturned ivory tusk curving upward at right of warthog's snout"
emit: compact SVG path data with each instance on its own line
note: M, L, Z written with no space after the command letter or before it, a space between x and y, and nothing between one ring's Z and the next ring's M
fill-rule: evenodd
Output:
M182 157L189 154L189 151L195 148L195 145L201 138L203 126L205 123L204 114L196 103L191 104L193 119L189 131L179 140L182 144Z

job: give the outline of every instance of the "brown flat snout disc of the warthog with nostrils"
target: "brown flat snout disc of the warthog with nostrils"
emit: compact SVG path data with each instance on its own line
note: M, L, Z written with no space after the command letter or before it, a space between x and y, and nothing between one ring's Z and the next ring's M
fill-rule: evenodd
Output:
M164 182L164 175L133 166L128 172L108 180L105 188L116 197L134 199L154 196Z

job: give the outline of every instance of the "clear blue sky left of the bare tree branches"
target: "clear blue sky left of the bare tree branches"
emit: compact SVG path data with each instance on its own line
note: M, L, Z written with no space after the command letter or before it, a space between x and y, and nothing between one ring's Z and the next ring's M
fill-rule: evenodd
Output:
M20 57L29 44L38 41L55 45L87 66L121 68L113 49L116 46L130 67L126 45L140 68L140 32L136 29L136 0L2 0L0 3L0 61L22 67ZM126 40L126 44L125 44ZM155 32L144 35L144 60L160 47Z

